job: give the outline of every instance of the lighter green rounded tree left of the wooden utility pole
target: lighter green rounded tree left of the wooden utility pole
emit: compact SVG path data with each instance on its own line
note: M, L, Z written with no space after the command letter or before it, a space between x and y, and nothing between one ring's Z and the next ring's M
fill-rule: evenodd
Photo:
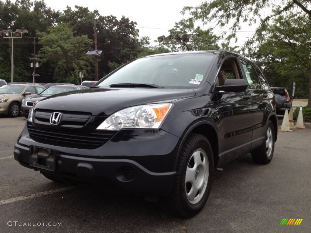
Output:
M77 73L90 69L92 57L85 54L93 41L86 35L74 37L67 24L59 24L51 27L48 33L38 32L37 35L42 45L37 58L52 64L55 81L62 82L65 73L67 82L79 83Z

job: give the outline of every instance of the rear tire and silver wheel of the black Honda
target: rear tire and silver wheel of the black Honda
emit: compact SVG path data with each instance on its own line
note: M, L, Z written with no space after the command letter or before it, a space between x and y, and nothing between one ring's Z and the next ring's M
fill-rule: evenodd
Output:
M274 126L272 121L268 121L268 127L265 133L265 140L262 145L254 149L252 153L252 158L255 163L268 164L271 162L274 152Z

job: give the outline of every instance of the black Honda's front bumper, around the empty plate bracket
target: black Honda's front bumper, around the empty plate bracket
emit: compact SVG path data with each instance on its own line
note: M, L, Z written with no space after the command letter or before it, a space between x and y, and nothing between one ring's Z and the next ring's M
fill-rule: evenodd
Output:
M14 158L23 166L68 181L109 183L137 195L167 195L175 174L174 165L179 138L164 130L125 130L96 149L56 147L30 139L27 126L14 146ZM128 131L128 130L127 130ZM55 171L29 165L30 145L57 149Z

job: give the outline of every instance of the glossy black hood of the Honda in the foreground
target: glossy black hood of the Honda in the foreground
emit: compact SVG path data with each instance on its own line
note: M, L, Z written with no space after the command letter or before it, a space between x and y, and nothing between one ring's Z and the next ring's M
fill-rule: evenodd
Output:
M89 112L107 117L131 106L149 103L168 103L195 95L193 89L84 89L49 96L38 102L35 109Z

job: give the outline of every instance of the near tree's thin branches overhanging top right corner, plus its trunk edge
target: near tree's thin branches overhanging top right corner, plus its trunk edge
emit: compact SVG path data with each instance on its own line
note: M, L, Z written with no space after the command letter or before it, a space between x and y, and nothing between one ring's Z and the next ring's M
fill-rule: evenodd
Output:
M227 39L235 38L237 40L237 31L241 29L241 23L247 22L248 25L253 25L259 22L253 38L250 38L246 43L246 48L250 45L261 42L267 38L264 32L269 28L269 22L277 19L278 16L297 15L299 19L306 19L306 24L310 24L311 10L309 0L212 0L210 2L202 2L197 7L184 7L183 13L190 12L193 20L200 20L204 24L213 22L215 27L221 28L230 24L231 33ZM262 18L262 10L270 9L271 13ZM252 51L251 51L252 52ZM309 54L309 59L310 54ZM309 102L308 107L311 107L311 66L309 62Z

